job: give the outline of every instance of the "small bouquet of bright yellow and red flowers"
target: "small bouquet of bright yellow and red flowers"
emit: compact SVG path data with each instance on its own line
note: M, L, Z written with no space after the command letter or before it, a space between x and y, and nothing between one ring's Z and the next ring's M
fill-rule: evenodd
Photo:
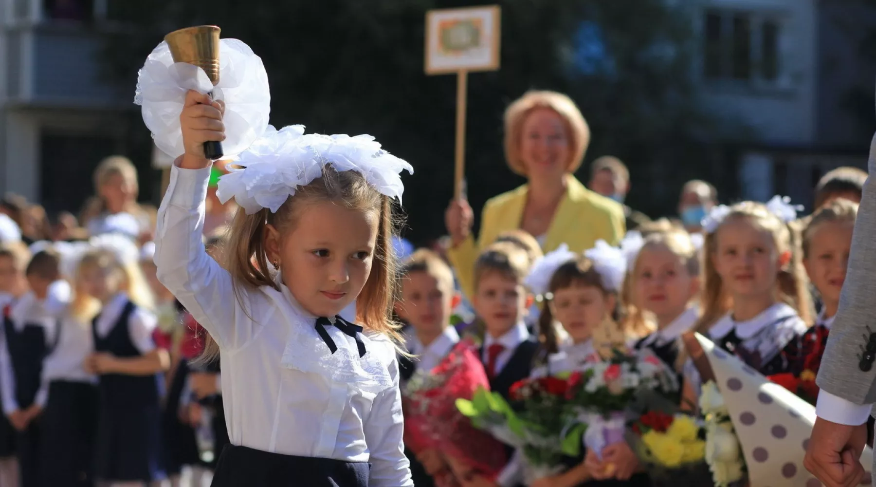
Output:
M633 420L630 429L630 442L654 485L710 484L702 421L649 411Z

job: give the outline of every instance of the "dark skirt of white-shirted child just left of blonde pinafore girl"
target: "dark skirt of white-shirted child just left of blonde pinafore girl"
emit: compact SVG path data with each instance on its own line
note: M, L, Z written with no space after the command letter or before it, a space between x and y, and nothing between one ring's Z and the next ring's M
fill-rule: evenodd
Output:
M49 385L49 400L40 425L41 485L94 485L97 404L96 385L63 380Z

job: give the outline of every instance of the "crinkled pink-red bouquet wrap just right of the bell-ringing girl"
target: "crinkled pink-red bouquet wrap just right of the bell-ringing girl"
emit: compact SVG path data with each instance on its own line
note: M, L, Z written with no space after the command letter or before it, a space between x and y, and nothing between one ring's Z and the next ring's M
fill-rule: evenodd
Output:
M406 446L414 453L436 449L494 478L505 467L505 448L456 408L456 399L471 399L489 387L484 366L468 341L458 342L432 371L414 372L402 391ZM460 485L449 470L434 476L434 482L439 487Z

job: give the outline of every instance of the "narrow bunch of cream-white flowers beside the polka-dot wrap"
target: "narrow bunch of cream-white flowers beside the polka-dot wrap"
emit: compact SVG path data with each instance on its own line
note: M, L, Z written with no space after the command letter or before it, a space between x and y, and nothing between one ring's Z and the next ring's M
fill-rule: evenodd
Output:
M745 481L745 456L733 428L730 412L713 381L703 384L700 412L705 419L705 461L717 487L729 487Z

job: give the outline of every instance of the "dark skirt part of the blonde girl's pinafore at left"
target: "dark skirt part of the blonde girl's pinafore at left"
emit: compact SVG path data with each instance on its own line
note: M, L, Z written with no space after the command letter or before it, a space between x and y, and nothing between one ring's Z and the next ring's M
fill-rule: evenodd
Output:
M166 477L161 449L161 408L157 404L101 404L95 445L98 480L161 480Z

